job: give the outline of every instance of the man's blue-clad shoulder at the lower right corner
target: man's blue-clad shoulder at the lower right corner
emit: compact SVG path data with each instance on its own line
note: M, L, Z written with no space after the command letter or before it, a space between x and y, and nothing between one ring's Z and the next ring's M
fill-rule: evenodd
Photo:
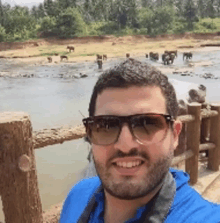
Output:
M220 205L205 200L190 187L187 173L176 170L171 173L176 181L176 195L166 223L219 223Z

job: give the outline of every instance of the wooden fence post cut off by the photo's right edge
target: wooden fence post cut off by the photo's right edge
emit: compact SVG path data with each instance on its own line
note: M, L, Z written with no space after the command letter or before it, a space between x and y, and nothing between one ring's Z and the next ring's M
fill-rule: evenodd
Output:
M210 142L215 144L215 148L209 151L208 168L218 171L220 163L220 104L212 104L211 110L217 111L218 115L211 117Z

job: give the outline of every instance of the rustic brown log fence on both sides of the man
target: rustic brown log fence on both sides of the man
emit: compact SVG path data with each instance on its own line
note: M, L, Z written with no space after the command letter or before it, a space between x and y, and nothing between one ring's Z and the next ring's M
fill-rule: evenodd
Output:
M201 104L192 103L188 106L188 114L178 116L178 119L186 126L187 150L176 156L172 165L185 160L190 183L195 184L198 179L199 152L209 150L208 168L219 170L220 105L213 104L207 109L202 108ZM32 131L27 113L0 114L0 192L5 223L58 221L54 213L51 217L48 217L49 211L43 214L34 149L79 139L84 135L83 126Z

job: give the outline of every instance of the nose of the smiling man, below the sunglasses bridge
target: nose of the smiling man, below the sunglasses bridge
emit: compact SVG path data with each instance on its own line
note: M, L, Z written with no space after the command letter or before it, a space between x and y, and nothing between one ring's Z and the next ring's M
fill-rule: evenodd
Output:
M139 143L133 136L127 123L123 124L117 142L114 144L115 149L128 153L131 149L137 148Z

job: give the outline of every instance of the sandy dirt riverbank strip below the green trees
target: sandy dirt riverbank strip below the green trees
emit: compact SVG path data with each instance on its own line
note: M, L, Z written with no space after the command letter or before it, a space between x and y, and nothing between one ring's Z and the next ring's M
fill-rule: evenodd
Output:
M52 57L52 63L60 63L60 55L68 56L68 62L83 62L96 60L96 54L107 54L108 58L143 56L149 52L163 53L164 50L178 52L204 50L206 44L220 46L220 36L164 35L156 38L148 36L104 36L82 37L69 40L39 39L21 43L0 43L0 58L13 58L19 63L44 64L47 57ZM74 46L74 52L68 52L67 46ZM58 56L55 56L58 54Z

